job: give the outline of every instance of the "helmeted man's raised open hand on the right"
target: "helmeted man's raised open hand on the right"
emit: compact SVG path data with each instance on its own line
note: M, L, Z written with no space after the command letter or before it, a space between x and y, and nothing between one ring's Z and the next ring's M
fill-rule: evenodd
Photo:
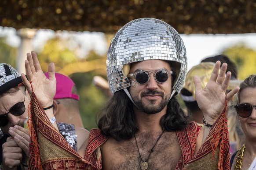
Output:
M197 104L204 114L205 120L213 124L222 113L226 104L226 90L229 85L231 73L227 72L227 64L223 63L220 68L220 61L215 63L210 80L205 89L201 88L201 80L198 76L193 76L195 84L195 96ZM239 90L239 87L234 88L227 94L227 100L230 100Z

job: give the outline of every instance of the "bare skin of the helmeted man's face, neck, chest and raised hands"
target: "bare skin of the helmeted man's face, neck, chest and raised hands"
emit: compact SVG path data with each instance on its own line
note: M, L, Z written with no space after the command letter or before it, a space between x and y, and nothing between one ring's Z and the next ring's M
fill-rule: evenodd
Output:
M32 59L33 58L33 59ZM55 82L55 67L54 64L49 64L48 72L49 79L45 77L43 71L41 71L40 64L38 62L35 52L32 51L32 57L30 54L27 55L25 61L26 74L29 77L29 80L33 81L33 90L36 96L39 99L39 102L42 106L49 106L53 101L54 90L56 87ZM196 86L196 97L197 103L202 112L204 113L205 120L208 123L212 124L219 117L219 114L223 111L226 94L225 91L228 87L228 82L230 80L231 74L227 73L227 64L223 64L221 71L219 72L220 62L217 61L215 68L212 71L212 76L210 81L206 85L205 89L201 89L200 78L194 76L194 83ZM162 60L145 60L135 64L132 64L130 73L134 72L137 69L142 70L155 70L159 68L166 68L170 70L170 66ZM170 78L169 78L170 79ZM157 106L161 103L161 100L170 96L171 94L171 80L166 81L165 83L159 84L153 78L153 74L150 73L150 81L145 85L135 85L136 87L131 87L130 93L132 97L138 96L140 99L141 92L146 88L148 89L157 89L161 92L161 96L143 96L141 101L145 104L150 104ZM25 75L22 74L22 80L26 85L28 91L31 93L31 87L29 82L26 80ZM50 90L45 90L50 89ZM239 88L233 89L227 94L227 99L229 100ZM154 102L150 102L153 100ZM147 105L147 106L150 106ZM148 156L146 150L150 149L158 136L160 135L162 129L159 125L160 117L165 114L166 107L156 114L146 114L141 110L137 109L134 106L136 121L139 127L139 131L136 133L138 139L138 146L141 152L143 159ZM51 113L53 115L53 113ZM48 117L52 117L48 115ZM201 137L197 138L197 149L201 146L202 141L208 135L209 128L206 127L204 131L200 131L199 135ZM138 169L139 168L139 154L135 145L135 138L129 140L118 142L113 138L109 138L102 145L102 166L104 170L111 169ZM172 153L172 154L170 154ZM181 149L177 141L176 132L165 132L158 144L156 145L154 152L151 154L148 163L150 164L150 169L170 169L170 167L175 167L179 158L181 156ZM160 168L161 167L161 168ZM167 168L165 168L167 167Z

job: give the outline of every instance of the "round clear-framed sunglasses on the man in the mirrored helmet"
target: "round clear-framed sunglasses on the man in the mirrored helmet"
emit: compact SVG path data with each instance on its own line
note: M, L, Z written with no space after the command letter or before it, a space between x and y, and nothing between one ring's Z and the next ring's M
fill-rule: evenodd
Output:
M164 69L160 70L140 70L136 71L135 73L128 74L128 78L135 76L135 80L143 85L150 79L150 73L154 73L154 78L158 83L163 83L168 80L169 74L172 74L172 71L167 71Z

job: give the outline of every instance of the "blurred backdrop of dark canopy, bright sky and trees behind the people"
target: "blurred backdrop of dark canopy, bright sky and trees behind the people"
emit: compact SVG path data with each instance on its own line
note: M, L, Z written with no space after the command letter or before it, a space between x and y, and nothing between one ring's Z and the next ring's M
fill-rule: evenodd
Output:
M1 0L0 62L24 73L26 53L36 51L43 71L50 62L77 85L84 126L111 95L106 53L113 35L136 18L172 25L187 48L188 70L224 54L238 78L256 73L256 2L245 0ZM183 105L183 103L181 103Z

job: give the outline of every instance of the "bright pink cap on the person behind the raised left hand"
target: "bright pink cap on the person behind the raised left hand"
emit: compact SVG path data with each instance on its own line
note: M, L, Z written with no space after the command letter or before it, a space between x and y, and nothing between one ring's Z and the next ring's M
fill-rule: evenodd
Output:
M49 78L48 72L44 73L47 78ZM79 95L72 93L72 87L75 83L66 75L56 73L55 78L57 81L56 94L54 99L72 98L79 100Z

